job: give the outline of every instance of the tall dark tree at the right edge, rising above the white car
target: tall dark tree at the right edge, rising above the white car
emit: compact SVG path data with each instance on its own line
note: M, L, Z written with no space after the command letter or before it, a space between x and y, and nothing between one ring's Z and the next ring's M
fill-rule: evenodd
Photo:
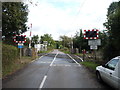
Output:
M107 22L108 43L104 48L104 58L111 59L120 55L120 1L113 2L108 8Z

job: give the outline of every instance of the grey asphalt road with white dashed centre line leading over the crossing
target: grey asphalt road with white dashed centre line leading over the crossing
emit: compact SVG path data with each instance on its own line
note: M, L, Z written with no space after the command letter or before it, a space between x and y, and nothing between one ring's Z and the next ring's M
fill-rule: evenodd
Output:
M106 88L69 54L54 50L31 62L3 88Z

